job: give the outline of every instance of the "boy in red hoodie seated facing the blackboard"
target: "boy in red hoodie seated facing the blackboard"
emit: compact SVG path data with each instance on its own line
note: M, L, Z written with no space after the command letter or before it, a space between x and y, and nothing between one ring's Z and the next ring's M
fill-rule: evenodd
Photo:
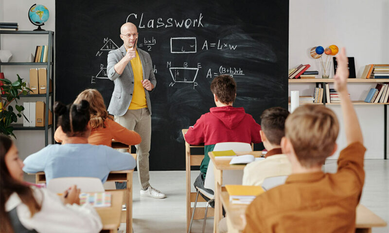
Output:
M196 178L195 186L204 188L204 179L207 173L212 151L219 142L260 143L259 131L261 126L254 118L245 113L244 108L232 107L236 98L236 83L230 75L219 75L212 80L211 91L216 107L210 109L189 127L185 134L185 141L192 145L204 143L204 159L200 166L200 175ZM210 189L205 189L213 193Z

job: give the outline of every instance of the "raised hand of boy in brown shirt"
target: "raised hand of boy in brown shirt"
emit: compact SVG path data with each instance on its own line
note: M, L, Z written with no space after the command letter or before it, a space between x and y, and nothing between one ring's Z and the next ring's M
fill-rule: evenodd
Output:
M347 78L349 77L348 62L346 49L342 48L336 56L337 68L334 76L335 89L338 93L347 92ZM347 94L347 93L346 93Z

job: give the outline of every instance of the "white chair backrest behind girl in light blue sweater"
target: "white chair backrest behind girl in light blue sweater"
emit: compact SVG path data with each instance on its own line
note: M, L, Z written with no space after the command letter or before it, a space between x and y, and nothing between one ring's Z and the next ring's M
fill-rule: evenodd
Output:
M94 177L54 178L47 184L47 189L55 193L63 193L73 184L77 185L81 192L104 192L103 183L99 178Z

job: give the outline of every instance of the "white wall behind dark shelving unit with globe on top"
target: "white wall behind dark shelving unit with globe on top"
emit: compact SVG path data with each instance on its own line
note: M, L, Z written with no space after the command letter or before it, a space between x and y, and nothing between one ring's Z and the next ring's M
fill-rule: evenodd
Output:
M28 19L28 10L35 3L46 6L50 11L49 20L42 26L45 30L55 31L55 1L54 0L0 0L0 21L1 22L18 22L19 31L31 31L37 26L33 25ZM35 54L37 45L47 45L48 35L0 35L1 49L11 50L13 54L12 62L26 62L29 54ZM37 67L37 66L35 66ZM42 66L44 67L44 66ZM28 66L1 66L1 72L7 79L16 80L16 74L28 82ZM22 101L37 101L45 98L21 98ZM18 123L23 121L19 119ZM19 149L21 158L27 157L45 146L44 131L14 131L17 136L16 144ZM50 133L50 130L49 130ZM49 136L49 138L51 135ZM50 143L49 139L49 143Z

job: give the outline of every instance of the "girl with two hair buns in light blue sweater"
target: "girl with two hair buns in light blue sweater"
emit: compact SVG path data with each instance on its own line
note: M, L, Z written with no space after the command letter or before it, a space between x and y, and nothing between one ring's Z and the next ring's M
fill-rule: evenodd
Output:
M107 146L88 144L90 134L89 103L63 105L55 102L58 125L67 134L65 145L49 145L28 156L23 170L28 173L44 171L46 183L58 177L97 177L103 183L110 171L133 169L135 159L129 153Z

